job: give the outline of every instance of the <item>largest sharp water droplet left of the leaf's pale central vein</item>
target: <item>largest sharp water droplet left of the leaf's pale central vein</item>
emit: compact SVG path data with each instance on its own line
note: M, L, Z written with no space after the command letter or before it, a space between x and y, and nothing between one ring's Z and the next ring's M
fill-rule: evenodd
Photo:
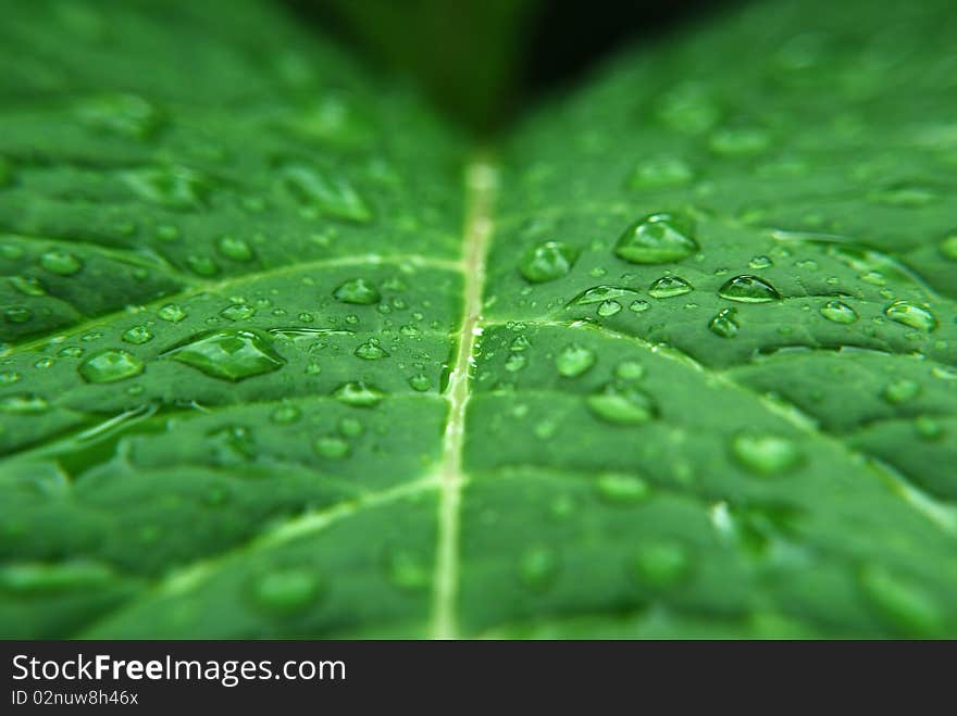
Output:
M269 336L252 329L201 334L169 354L212 378L233 381L271 373L285 364Z

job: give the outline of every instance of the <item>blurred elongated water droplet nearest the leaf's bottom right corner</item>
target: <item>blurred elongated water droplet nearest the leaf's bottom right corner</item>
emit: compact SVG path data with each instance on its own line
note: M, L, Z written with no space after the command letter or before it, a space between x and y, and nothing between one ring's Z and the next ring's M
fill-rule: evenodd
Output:
M873 607L909 637L943 636L946 618L934 596L919 585L892 574L883 565L860 571L860 587Z

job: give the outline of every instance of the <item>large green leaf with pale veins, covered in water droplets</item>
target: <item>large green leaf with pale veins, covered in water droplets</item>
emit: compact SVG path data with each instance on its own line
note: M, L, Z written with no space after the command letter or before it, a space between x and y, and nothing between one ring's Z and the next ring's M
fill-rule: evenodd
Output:
M878 5L476 152L264 2L18 3L0 635L957 635L957 26Z

